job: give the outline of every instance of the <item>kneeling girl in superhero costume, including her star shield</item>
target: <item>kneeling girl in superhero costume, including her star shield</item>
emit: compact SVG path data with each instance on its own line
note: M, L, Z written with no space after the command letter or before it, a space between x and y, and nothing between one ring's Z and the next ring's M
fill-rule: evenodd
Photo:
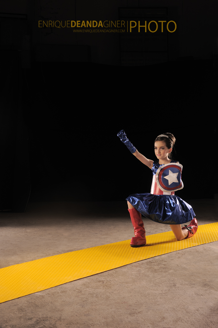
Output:
M141 247L147 243L142 216L154 222L170 224L177 241L195 235L198 222L195 217L193 218L195 213L192 207L180 197L174 195L174 191L183 189L181 178L183 166L174 160L168 162L168 159L170 159L168 155L171 153L176 141L174 135L171 133L160 134L155 139L155 154L157 157L162 156L162 160L164 158L166 162L165 164L159 164L159 160L151 161L140 154L129 141L124 130L120 130L117 136L129 151L136 155L143 164L151 168L153 172L151 193L132 194L126 198L135 234L131 238L130 246ZM181 227L182 223L189 221L191 222L188 226L185 224L184 227ZM188 232L185 232L185 230L188 230Z

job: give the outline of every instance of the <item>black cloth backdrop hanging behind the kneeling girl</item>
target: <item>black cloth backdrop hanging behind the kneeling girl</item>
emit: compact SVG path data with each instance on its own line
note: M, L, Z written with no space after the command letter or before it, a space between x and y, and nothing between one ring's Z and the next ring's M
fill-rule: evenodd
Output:
M121 129L139 152L153 160L156 136L173 133L177 139L174 158L184 166L184 189L177 195L212 198L216 192L216 178L211 174L216 163L212 64L196 60L115 67L33 62L32 68L13 73L6 65L5 77L20 74L21 91L13 92L18 90L13 78L5 88L12 88L10 97L19 104L15 125L26 137L14 135L10 144L4 139L5 149L16 143L17 154L23 155L18 161L11 159L10 183L15 192L13 197L8 194L10 200L2 209L11 206L22 212L28 199L113 201L150 192L152 173L121 143L117 137ZM5 101L4 113L8 106ZM2 127L5 122L1 120ZM7 120L9 135L11 122ZM19 150L21 146L25 152ZM7 158L6 152L3 164ZM6 163L4 176L11 176L11 170Z

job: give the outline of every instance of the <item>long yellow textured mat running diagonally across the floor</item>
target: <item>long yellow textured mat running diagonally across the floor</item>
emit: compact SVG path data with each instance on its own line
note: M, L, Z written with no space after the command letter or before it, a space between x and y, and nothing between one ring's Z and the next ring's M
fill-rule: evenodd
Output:
M0 303L146 258L217 241L218 222L199 226L193 237L181 241L176 241L172 231L146 239L143 247L130 247L129 239L2 268Z

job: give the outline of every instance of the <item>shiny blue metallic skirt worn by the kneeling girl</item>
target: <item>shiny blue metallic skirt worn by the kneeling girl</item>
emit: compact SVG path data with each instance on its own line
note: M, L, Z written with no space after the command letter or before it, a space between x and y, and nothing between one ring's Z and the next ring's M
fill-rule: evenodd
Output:
M191 205L176 195L132 194L126 198L143 217L164 224L183 224L195 213Z

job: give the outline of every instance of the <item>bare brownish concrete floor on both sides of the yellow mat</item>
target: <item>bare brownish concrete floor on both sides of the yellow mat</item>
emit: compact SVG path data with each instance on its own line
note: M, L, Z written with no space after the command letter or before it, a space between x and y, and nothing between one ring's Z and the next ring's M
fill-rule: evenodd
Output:
M217 197L187 202L199 225L218 221ZM134 236L126 201L29 203L0 226L1 268ZM0 328L217 328L217 272L218 241L1 303Z

